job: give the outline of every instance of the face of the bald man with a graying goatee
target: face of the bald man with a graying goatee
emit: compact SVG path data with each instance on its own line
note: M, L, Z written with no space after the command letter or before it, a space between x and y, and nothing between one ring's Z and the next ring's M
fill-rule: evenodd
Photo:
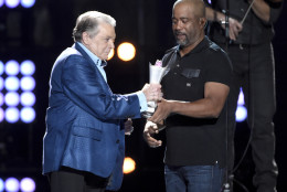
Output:
M172 31L177 43L183 47L196 42L202 33L200 19L195 18L193 9L187 2L180 2L173 9Z

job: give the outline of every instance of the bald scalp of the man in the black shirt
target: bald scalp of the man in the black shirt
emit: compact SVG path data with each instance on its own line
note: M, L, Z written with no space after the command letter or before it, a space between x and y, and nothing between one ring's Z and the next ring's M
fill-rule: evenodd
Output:
M189 7L189 9L192 10L192 13L195 18L205 18L205 4L203 0L177 0L173 4L173 10L174 7L181 3Z

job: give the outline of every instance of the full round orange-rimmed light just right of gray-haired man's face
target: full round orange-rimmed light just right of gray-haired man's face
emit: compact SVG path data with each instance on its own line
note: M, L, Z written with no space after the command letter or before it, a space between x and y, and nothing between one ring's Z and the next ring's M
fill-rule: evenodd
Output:
M121 43L117 49L118 57L125 62L132 60L136 55L136 49L131 43Z

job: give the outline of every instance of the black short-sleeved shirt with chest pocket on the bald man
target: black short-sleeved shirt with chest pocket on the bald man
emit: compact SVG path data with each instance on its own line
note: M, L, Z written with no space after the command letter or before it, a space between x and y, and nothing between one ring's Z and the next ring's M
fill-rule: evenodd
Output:
M181 57L179 47L163 56L169 72L162 78L164 98L194 102L204 97L204 84L230 85L231 64L227 55L206 36ZM224 166L226 106L219 118L191 118L171 115L167 118L164 162L170 166Z

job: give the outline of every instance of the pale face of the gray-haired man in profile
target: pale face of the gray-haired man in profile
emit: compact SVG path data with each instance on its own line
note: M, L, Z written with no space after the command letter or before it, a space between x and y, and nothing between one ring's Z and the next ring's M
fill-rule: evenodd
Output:
M115 28L108 23L99 23L98 33L91 38L87 32L83 33L84 45L100 60L107 60L111 49L115 47Z

